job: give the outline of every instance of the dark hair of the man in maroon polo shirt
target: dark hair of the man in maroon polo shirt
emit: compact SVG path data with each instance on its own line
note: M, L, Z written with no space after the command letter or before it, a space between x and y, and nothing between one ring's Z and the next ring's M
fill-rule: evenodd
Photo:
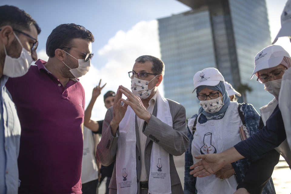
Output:
M49 57L55 56L55 49L64 49L69 51L72 45L72 39L82 38L94 42L94 36L82 25L61 24L52 30L46 41L46 54Z

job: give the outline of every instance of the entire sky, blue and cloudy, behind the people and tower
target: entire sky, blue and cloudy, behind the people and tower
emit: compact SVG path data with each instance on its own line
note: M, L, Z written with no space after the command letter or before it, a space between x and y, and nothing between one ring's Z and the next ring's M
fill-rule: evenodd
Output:
M266 0L266 3L273 40L281 27L280 15L286 0ZM85 89L86 106L91 99L92 89L100 79L102 83L107 82L101 95L108 90L116 91L121 84L129 88L130 79L127 72L131 71L134 60L138 56L161 57L157 18L190 10L188 6L176 0L2 0L0 2L0 5L6 4L24 9L41 27L42 32L38 36L38 58L47 59L46 39L60 24L83 25L93 33L95 42L92 44L92 51L95 55L92 66L90 71L80 78ZM276 44L291 53L288 38L279 38ZM162 84L159 90L163 94ZM92 119L103 119L105 112L103 96L100 96L93 108Z

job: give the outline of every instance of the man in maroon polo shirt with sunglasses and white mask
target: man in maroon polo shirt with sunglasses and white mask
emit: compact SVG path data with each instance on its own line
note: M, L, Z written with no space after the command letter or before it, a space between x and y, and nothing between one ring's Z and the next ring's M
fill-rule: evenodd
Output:
M85 92L77 79L89 70L92 33L62 24L46 43L48 62L9 79L22 133L19 193L80 194Z

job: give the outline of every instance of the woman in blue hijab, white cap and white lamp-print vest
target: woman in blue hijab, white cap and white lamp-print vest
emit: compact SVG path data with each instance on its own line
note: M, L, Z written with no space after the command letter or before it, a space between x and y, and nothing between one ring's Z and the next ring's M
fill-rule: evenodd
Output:
M253 135L259 127L259 114L250 104L230 102L224 78L217 69L203 69L193 80L201 108L199 114L193 115L187 123L192 143L185 153L184 193L233 194L243 182L250 164L248 160L229 162L215 175L195 178L189 174L193 159L198 161L192 156L222 152ZM263 193L275 193L270 181Z

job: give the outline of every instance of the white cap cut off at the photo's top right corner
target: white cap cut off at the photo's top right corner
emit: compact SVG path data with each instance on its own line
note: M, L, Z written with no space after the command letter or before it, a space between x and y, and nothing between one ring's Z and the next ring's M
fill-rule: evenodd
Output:
M281 29L272 44L275 44L281 36L291 36L291 0L286 2L281 14Z

